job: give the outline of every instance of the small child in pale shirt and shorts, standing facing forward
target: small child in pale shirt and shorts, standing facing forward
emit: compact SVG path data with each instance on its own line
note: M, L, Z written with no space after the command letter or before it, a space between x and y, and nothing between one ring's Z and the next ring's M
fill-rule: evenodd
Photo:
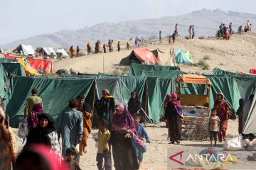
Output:
M216 147L217 133L220 129L220 118L216 115L216 111L214 108L211 110L208 129L210 132L210 147L213 147L213 139L214 139L214 147Z

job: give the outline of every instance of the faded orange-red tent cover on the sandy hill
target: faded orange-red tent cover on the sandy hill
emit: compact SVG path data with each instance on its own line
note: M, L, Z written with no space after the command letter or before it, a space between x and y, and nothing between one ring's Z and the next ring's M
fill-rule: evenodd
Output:
M150 63L150 64L159 64L159 61L154 56L153 52L151 52L147 48L136 48L133 50L135 55L142 62Z

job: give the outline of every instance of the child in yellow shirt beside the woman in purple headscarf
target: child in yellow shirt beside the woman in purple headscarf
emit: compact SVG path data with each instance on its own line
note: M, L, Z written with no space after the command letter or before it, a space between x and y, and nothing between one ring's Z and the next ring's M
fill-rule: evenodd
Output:
M99 170L111 170L111 154L110 154L110 131L107 129L107 121L101 120L99 123L98 142L99 147L97 150L97 168ZM104 166L103 166L104 159Z

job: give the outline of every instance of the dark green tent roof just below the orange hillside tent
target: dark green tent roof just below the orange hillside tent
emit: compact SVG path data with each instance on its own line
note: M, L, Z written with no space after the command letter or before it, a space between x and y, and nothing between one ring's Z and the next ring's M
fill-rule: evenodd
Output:
M159 65L150 65L150 64L132 64L129 69L129 76L140 76L143 71L172 71L172 70L180 70L179 67L176 66L159 66Z

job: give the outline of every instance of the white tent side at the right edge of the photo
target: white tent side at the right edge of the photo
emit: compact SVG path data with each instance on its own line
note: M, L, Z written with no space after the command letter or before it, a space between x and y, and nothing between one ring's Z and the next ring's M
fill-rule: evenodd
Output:
M242 133L256 134L256 95L254 96L254 98L252 100L252 105L250 107L250 111L248 113L247 120L245 122Z

